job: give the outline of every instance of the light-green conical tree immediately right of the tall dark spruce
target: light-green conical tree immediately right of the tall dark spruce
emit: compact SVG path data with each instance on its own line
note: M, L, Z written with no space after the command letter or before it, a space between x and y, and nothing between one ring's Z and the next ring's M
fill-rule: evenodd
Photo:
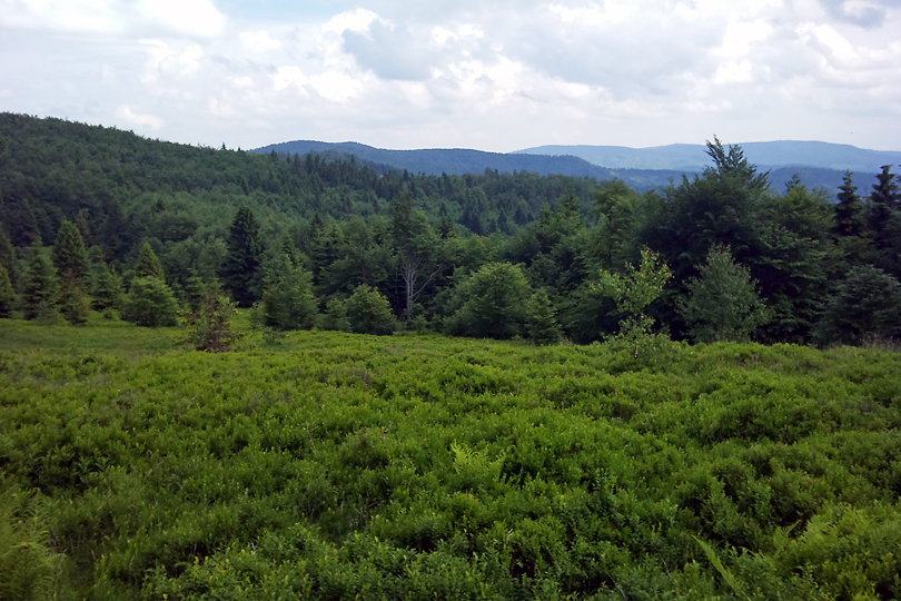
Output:
M264 324L276 329L309 329L316 319L313 276L279 253L267 269L260 299Z

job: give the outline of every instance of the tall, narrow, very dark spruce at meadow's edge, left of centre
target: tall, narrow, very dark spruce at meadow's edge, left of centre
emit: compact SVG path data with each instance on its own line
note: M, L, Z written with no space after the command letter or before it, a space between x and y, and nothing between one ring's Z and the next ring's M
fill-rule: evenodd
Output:
M249 307L263 288L263 242L256 217L247 207L235 215L228 235L228 255L222 265L222 283L238 306Z

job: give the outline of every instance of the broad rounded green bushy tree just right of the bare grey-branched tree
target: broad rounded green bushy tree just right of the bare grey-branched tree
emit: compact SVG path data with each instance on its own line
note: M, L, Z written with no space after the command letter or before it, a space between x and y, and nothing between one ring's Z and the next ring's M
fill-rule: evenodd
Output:
M461 282L455 296L450 333L512 338L523 333L532 286L521 266L489 263Z

